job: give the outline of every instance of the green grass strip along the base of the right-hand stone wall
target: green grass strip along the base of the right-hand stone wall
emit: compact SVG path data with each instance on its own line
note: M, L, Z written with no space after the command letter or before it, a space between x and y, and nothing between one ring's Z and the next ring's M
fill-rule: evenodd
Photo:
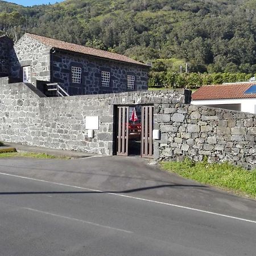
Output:
M189 159L163 162L162 167L182 177L256 199L256 170L247 171L229 163L209 164L207 160L195 163Z

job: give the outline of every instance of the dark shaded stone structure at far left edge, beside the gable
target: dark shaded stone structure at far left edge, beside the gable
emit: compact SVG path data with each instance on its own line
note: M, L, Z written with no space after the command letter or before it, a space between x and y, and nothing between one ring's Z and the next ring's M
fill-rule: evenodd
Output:
M10 51L13 42L7 36L0 37L0 76L8 76L10 73Z

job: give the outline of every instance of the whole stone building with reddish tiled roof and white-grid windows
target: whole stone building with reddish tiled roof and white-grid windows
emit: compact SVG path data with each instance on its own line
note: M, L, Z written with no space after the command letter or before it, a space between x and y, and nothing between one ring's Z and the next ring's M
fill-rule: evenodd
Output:
M5 73L44 93L54 83L70 96L147 89L148 65L117 53L28 33L10 52Z

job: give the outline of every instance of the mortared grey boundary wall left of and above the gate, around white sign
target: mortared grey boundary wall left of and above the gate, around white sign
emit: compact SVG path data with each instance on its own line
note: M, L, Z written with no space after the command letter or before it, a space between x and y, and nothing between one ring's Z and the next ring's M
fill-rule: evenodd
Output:
M114 105L162 103L168 97L185 102L184 90L70 97L35 92L22 82L0 86L0 141L112 155ZM85 129L85 117L91 115L100 117L94 138L88 138Z

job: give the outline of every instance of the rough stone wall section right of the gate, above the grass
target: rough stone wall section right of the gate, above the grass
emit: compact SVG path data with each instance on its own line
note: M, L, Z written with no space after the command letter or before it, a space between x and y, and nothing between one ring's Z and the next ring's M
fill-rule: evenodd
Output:
M167 118L167 114L170 118ZM155 157L182 160L186 156L209 162L229 161L256 168L256 115L189 104L155 106L155 127L162 132L155 141Z

